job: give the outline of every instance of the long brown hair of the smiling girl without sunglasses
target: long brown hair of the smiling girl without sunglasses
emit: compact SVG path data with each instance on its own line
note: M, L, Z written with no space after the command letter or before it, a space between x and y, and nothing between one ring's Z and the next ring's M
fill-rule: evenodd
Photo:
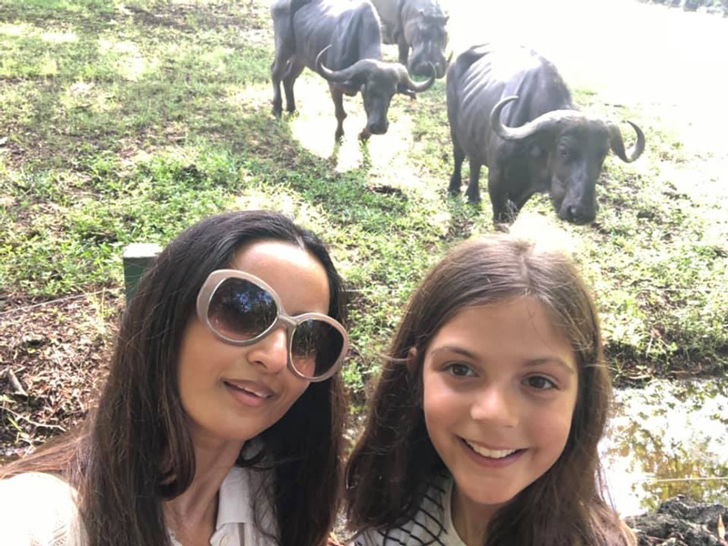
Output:
M602 497L597 444L611 399L596 308L571 258L511 236L461 244L410 298L346 471L353 531L390 529L417 511L445 470L421 409L422 364L435 333L464 308L537 298L571 342L579 373L571 431L561 457L491 518L486 546L622 545L631 534ZM411 348L416 357L408 362Z

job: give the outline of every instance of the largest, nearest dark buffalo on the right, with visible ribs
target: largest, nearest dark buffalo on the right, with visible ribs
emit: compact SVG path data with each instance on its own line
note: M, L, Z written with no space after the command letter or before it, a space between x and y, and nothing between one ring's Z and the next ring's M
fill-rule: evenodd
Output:
M488 166L493 221L515 217L536 192L549 191L561 219L596 216L596 182L610 148L627 163L640 157L644 135L626 153L611 122L574 110L556 68L521 47L476 45L448 69L448 119L455 168L450 193L460 194L460 168L470 159L471 203L480 201L480 167Z

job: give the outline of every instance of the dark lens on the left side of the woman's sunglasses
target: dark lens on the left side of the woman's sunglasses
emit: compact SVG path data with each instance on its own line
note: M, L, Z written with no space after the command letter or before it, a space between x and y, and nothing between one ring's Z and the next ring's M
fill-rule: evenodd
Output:
M217 287L207 319L227 339L246 341L262 334L278 316L273 297L243 278L226 278Z

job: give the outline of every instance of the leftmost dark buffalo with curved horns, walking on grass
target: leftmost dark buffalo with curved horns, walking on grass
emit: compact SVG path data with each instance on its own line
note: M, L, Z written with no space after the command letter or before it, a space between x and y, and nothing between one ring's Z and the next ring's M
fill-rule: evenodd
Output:
M389 101L395 93L414 96L435 81L434 68L421 83L411 80L405 66L381 60L381 31L374 8L363 0L278 0L271 7L276 58L273 79L273 114L281 114L280 82L286 92L286 109L296 110L293 84L305 66L329 81L338 126L344 135L343 96L359 91L367 112L367 126L359 134L387 132Z

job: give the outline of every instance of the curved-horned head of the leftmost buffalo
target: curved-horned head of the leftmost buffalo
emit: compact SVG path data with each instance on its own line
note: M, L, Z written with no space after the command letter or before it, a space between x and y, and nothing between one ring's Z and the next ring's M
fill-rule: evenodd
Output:
M329 47L330 45L322 49L316 57L317 72L330 83L339 84L349 94L361 92L364 110L367 112L367 126L362 133L365 138L369 134L383 135L387 132L387 112L392 96L396 93L413 96L435 83L435 70L432 66L430 77L418 83L410 78L405 66L377 59L361 59L342 70L330 70L323 64L323 55Z

